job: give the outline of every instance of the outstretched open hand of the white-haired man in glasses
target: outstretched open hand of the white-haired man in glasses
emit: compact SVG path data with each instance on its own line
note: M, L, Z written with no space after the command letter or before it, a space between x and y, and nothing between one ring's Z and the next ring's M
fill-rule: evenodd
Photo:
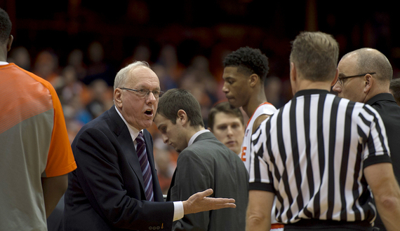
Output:
M236 208L232 198L213 198L208 197L213 194L213 190L208 188L203 192L195 193L183 202L183 211L186 214L196 214L201 211L209 211L224 208Z

